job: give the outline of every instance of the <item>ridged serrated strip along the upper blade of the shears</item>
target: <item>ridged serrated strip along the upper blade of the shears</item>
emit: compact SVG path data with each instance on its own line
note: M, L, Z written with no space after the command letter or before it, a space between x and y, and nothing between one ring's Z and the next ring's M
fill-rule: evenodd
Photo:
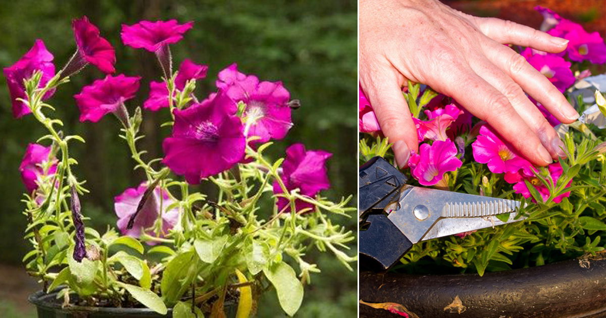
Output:
M486 199L488 200L486 200ZM520 207L516 200L484 197L483 202L447 202L442 217L481 217L515 211Z

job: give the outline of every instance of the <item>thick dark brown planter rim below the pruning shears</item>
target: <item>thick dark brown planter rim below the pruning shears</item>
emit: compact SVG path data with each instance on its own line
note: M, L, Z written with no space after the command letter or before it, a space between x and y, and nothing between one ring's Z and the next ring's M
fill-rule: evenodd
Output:
M363 271L360 299L400 303L419 318L606 317L606 259L588 262L573 259L483 277ZM444 310L455 296L465 306L460 314ZM398 315L360 305L360 317Z

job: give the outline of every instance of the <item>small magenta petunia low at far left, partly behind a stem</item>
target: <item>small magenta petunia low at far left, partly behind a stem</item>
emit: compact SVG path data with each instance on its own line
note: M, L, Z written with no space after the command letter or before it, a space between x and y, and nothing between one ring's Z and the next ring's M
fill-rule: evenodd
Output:
M27 145L25 155L21 165L19 165L19 171L28 193L38 189L38 182L42 176L51 176L56 173L56 159L50 157L50 150L50 147L44 147L43 145ZM44 171L42 165L48 161L54 161L55 163L48 168L48 171Z

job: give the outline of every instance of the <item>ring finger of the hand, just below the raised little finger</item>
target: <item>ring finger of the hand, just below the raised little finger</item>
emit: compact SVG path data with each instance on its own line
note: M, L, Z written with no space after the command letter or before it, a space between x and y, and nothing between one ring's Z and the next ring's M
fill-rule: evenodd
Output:
M571 124L579 118L579 113L568 103L545 75L528 64L526 59L505 45L488 44L484 54L522 87L534 100L540 102L559 121Z

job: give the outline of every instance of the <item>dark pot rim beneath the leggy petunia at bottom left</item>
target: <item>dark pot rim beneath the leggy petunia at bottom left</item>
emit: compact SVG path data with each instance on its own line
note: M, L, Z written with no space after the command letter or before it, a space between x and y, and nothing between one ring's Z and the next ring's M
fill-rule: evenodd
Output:
M172 317L173 310L168 309L168 313L161 315L148 308L110 308L110 307L87 307L87 306L69 306L61 308L61 303L56 300L58 290L51 293L38 291L31 294L29 301L36 305L38 318L156 318ZM234 303L226 304L225 313L227 317L235 317L238 305Z

